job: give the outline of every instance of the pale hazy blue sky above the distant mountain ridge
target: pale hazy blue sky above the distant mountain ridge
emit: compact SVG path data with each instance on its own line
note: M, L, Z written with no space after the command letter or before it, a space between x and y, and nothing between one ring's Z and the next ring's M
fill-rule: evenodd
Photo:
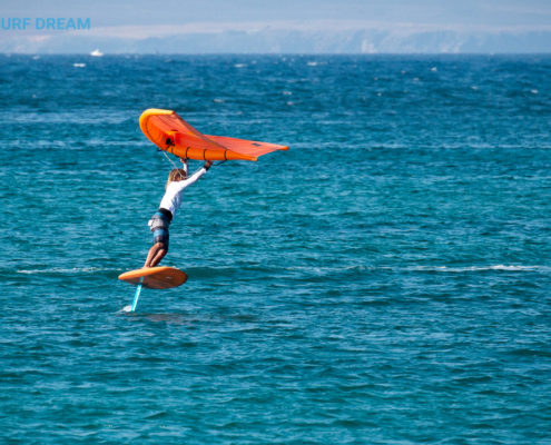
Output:
M18 0L8 17L82 17L92 27L200 22L366 21L391 27L425 24L531 29L551 24L551 0Z

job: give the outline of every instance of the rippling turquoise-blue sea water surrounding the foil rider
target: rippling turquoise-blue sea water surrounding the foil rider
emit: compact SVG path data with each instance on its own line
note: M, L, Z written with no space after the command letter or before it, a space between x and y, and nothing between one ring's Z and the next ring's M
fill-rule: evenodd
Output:
M0 56L0 442L550 443L550 75ZM291 150L186 190L189 280L127 314L170 169L147 108Z

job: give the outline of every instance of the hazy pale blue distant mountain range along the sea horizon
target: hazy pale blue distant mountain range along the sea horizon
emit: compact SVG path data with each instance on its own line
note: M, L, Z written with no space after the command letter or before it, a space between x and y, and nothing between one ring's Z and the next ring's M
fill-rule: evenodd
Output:
M551 27L464 28L356 22L190 23L49 33L0 32L4 53L544 53Z

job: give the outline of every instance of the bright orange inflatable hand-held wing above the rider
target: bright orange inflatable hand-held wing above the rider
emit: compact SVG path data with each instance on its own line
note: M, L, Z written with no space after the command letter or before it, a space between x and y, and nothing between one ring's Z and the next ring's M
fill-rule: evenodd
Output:
M258 160L258 157L286 146L206 136L181 119L175 111L149 109L139 118L144 135L161 150L180 158L196 160Z

